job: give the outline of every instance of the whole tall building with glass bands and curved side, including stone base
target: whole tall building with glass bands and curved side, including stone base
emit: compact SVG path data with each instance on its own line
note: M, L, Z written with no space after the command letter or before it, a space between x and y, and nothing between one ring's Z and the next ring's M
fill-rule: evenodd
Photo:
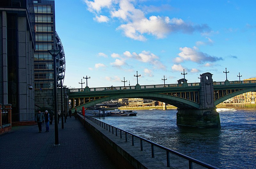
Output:
M57 84L62 84L65 75L65 54L60 38L55 31L55 5L53 0L34 0L36 50L34 54L35 71L35 108L54 109L53 71L57 69ZM56 56L56 68L50 49L60 49ZM58 89L58 109L60 109L60 89ZM64 91L63 91L64 96Z

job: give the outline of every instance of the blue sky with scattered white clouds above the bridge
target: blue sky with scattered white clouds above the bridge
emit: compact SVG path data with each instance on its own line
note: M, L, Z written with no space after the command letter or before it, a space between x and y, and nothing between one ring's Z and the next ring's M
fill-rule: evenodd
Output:
M55 0L64 85L81 88L256 77L256 1ZM85 79L83 79L85 82ZM83 88L85 85L83 84Z

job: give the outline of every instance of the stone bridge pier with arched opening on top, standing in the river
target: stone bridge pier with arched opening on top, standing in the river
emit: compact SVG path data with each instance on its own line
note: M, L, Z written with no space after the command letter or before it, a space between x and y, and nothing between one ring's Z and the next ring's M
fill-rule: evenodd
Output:
M220 128L220 115L216 111L216 106L214 105L212 74L207 72L200 76L200 107L198 109L178 108L177 125L202 128Z

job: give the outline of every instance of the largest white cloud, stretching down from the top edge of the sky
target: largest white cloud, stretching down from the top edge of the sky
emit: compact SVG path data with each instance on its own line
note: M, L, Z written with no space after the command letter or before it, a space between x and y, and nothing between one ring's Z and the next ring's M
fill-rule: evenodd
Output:
M193 23L186 23L181 18L172 18L168 16L149 16L145 17L143 8L139 9L134 6L138 3L134 0L84 0L87 4L88 10L92 13L100 13L102 8L105 8L104 14L96 20L107 22L108 18L118 18L122 25L117 27L117 30L122 30L126 37L134 40L145 41L145 35L153 35L156 38L165 38L168 33L182 32L182 33L207 33L210 32L210 27L206 24L194 25ZM133 4L134 3L134 4Z

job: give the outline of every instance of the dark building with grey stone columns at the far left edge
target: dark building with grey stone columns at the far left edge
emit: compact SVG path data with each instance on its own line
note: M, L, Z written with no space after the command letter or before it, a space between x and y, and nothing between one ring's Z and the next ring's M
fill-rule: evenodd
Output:
M34 113L34 49L33 1L1 0L0 103L12 114Z

